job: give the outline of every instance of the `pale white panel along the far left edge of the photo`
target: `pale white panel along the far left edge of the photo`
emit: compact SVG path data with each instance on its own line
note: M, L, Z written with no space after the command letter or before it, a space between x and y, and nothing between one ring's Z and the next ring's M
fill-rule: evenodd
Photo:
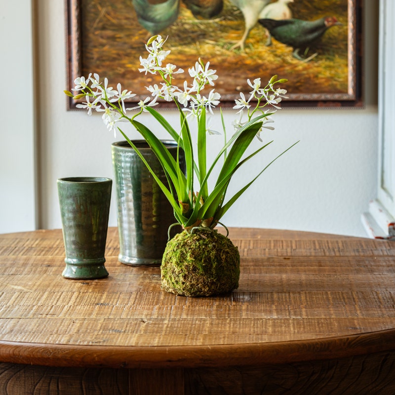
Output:
M0 233L36 228L31 0L0 7Z

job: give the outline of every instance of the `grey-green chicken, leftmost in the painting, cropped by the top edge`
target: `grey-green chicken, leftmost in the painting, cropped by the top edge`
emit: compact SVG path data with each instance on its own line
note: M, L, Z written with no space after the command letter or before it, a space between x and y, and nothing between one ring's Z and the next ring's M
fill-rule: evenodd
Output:
M178 17L179 0L132 0L137 19L151 35L156 35L173 24Z

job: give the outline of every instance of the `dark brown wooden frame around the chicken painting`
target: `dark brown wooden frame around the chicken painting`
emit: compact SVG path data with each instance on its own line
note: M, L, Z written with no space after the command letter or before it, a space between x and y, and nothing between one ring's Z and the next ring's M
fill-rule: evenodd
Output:
M348 88L347 92L341 93L320 93L320 92L306 92L306 93L292 93L292 89L288 88L288 99L282 102L282 107L318 107L318 108L339 108L339 107L363 107L362 95L362 57L361 57L361 43L362 43L362 1L361 0L347 0L348 1ZM74 79L82 75L84 53L82 50L82 23L83 15L81 12L82 0L65 0L66 5L66 19L67 19L67 83L68 89L74 86ZM288 55L289 56L289 55ZM219 78L221 73L218 72ZM101 76L102 77L102 76ZM103 75L103 77L105 77ZM229 77L231 79L231 77ZM290 86L288 82L288 87ZM123 87L123 84L122 84ZM127 86L125 86L126 88ZM248 86L247 86L248 88ZM243 90L244 91L244 90ZM143 97L147 96L147 92L133 90L137 93L131 99L128 105L135 105ZM224 95L221 93L222 107L232 107L234 99L238 98L238 93ZM169 107L168 103L160 103L162 107ZM171 106L173 107L173 106ZM68 98L68 110L76 109L76 102Z

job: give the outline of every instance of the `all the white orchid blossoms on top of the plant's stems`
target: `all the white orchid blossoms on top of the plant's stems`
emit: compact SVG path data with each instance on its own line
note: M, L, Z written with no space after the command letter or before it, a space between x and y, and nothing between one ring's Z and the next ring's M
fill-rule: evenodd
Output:
M195 66L188 70L192 82L184 81L182 87L173 84L174 75L184 73L184 70L178 69L177 66L167 63L164 65L164 60L170 53L169 50L163 50L163 45L166 39L161 36L154 36L147 44L146 49L148 57L140 56L141 68L139 71L145 74L159 74L162 82L160 84L150 85L147 88L150 96L144 100L140 100L135 107L126 108L125 100L135 96L134 93L127 89L122 90L118 83L117 89L108 86L108 79L105 78L100 81L97 74L89 74L88 78L79 77L75 79L75 87L72 89L74 93L65 91L66 94L74 99L84 97L85 102L77 104L78 108L88 110L88 115L92 114L92 110L103 112L103 121L107 128L116 133L117 123L120 121L127 121L127 110L140 111L135 114L133 118L137 117L147 107L154 107L158 104L158 99L165 101L174 101L177 107L187 114L187 117L194 116L199 118L202 109L204 108L209 114L213 114L213 109L220 104L221 95L212 88L206 95L202 94L202 90L206 85L214 86L214 81L218 79L216 71L209 68L210 62L206 64L199 58ZM269 111L273 113L273 109L264 110L264 107L271 105L279 108L278 104L285 98L286 90L282 88L275 88L276 83L285 82L286 79L278 79L277 76L272 77L266 86L261 85L261 79L257 78L251 82L247 80L248 85L252 88L249 92L249 98L246 99L244 93L240 93L240 98L235 100L234 109L237 109L238 118L233 122L235 131L242 128L245 124L251 121L257 112L268 114ZM118 103L118 106L116 105ZM262 128L273 129L268 126L268 123L273 122L269 116L260 119L262 127L257 132L257 137L260 139L260 132ZM210 127L210 117L207 117L206 131L209 134L219 134Z

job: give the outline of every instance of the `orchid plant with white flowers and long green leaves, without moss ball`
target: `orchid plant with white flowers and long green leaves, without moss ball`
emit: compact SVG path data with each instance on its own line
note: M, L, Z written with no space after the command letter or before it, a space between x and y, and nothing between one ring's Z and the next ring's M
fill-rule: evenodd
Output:
M208 166L206 160L206 134L218 134L217 131L211 129L210 115L213 114L213 109L220 104L220 94L215 92L214 88L209 91L206 89L207 93L205 94L202 91L207 85L214 86L214 81L218 76L215 70L209 69L209 62L204 64L199 59L195 66L189 69L192 83L188 84L187 81L184 81L181 87L174 85L175 75L183 73L183 70L177 69L172 64L163 66L166 56L170 53L170 51L163 49L165 41L161 36L152 37L146 44L148 57L140 57L142 68L139 71L145 74L159 74L162 82L160 85L154 84L147 87L151 95L145 100L141 100L136 107L125 108L124 101L134 96L131 91L127 89L122 90L120 84L117 85L117 89L113 89L108 86L107 78L100 80L97 74L93 74L93 76L90 74L86 79L84 77L77 78L75 80L76 86L72 89L74 93L69 91L65 91L65 93L76 100L85 98L85 102L77 104L77 107L87 109L88 115L92 114L92 110L102 112L103 121L107 128L115 133L119 131L123 135L158 182L159 187L174 209L174 216L177 222L187 232L191 233L196 227L213 229L220 223L221 217L235 203L237 198L276 160L272 160L233 197L229 200L225 199L228 185L235 172L246 161L272 143L269 142L261 146L255 152L243 158L246 149L254 138L257 137L261 140L260 133L263 128L273 129L270 126L270 123L273 122L270 116L276 110L273 111L266 107L271 105L279 108L278 103L283 97L286 97L286 90L276 86L287 80L277 79L277 76L273 76L265 86L261 85L260 78L254 79L252 82L247 80L252 90L247 97L240 93L240 98L236 100L234 109L238 110L237 120L233 123L235 131L229 139L227 138L221 112L225 142L213 163ZM179 132L155 110L154 107L158 104L159 98L166 101L174 101L180 113ZM134 115L127 115L129 110L136 109L139 111L136 111ZM178 143L178 147L184 150L186 174L181 171L178 159L175 160L155 134L146 125L137 120L138 116L143 112L149 112L157 119ZM196 150L194 150L189 126L191 119L197 122ZM133 142L121 130L119 123L122 121L130 122L147 141L166 173L169 180L168 186L159 180ZM208 179L213 172L214 166L220 161L222 161L221 170L213 190L209 192Z

